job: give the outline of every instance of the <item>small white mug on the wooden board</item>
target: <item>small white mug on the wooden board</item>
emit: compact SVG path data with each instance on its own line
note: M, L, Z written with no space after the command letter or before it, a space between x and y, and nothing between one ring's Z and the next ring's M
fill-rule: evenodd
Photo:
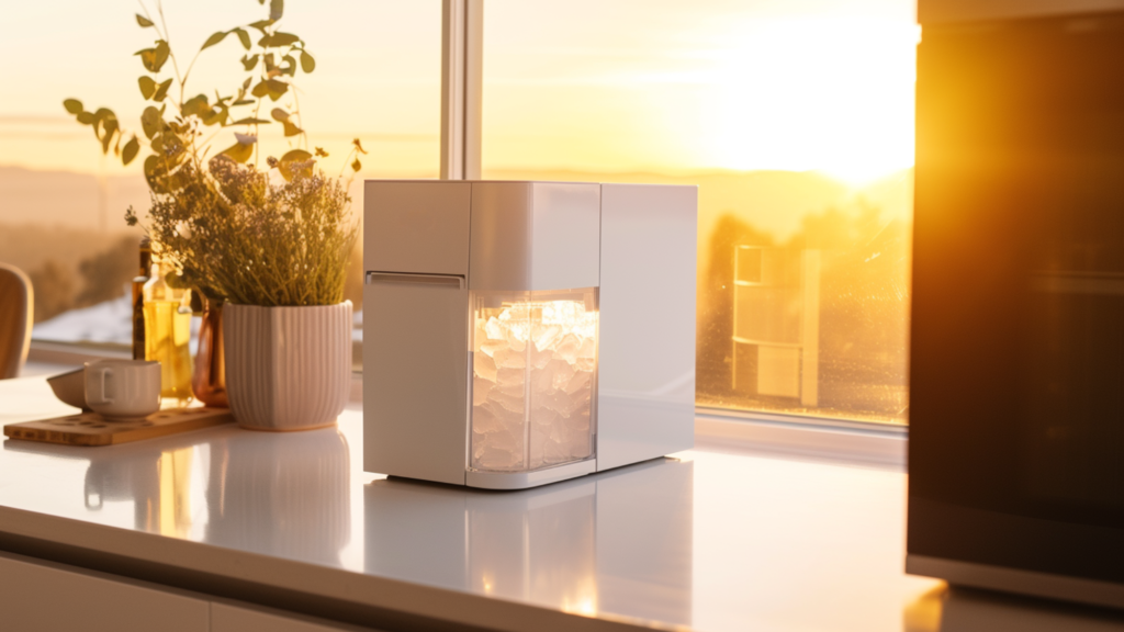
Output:
M103 417L145 417L160 410L160 362L87 362L85 403Z

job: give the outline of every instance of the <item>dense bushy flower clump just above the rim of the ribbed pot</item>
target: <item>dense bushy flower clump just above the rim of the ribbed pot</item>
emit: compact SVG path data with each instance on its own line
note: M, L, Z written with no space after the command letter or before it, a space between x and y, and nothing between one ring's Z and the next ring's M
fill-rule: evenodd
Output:
M272 162L272 161L271 161ZM343 300L348 255L359 235L338 179L293 165L291 180L225 155L209 177L191 166L176 196L153 196L153 241L182 268L185 282L242 305L310 306ZM136 214L127 217L136 223Z

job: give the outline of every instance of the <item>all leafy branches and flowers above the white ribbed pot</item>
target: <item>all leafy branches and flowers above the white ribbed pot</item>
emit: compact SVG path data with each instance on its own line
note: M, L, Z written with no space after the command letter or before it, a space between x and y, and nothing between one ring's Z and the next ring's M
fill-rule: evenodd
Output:
M297 73L312 72L316 62L302 39L281 29L282 1L268 2L266 19L212 34L183 72L171 47L161 1L155 13L143 0L139 4L137 24L152 28L158 38L153 47L137 52L146 71L137 79L145 100L139 134L124 128L107 108L88 111L76 99L63 105L80 124L93 127L105 155L114 147L127 165L143 146L151 152L143 161L152 193L143 227L154 244L183 270L189 285L206 288L215 298L259 305L342 300L357 234L348 214L347 186L361 169L359 154L366 151L357 138L353 141L345 160L352 169L346 181L342 172L328 179L316 171L316 160L328 153L321 147L315 147L315 155L310 152L314 147L303 129L301 91L296 83ZM251 39L254 30L261 33L256 42ZM232 34L245 51L239 63L248 76L227 97L215 92L214 101L206 94L189 98L187 82L202 51ZM161 81L169 61L171 73L163 76L172 76ZM178 98L169 96L173 82ZM277 103L290 91L291 107L285 107L292 112L263 107L266 99ZM232 116L233 108L248 105L253 105L251 118ZM257 142L261 126L270 123L261 118L263 111L284 128L289 151L279 159L264 156ZM243 125L253 135L235 133L237 142L211 157L218 135ZM206 127L214 130L208 134ZM263 157L283 177L283 183L271 184L268 171L245 165L251 159L257 165ZM130 208L126 222L136 225L139 220Z

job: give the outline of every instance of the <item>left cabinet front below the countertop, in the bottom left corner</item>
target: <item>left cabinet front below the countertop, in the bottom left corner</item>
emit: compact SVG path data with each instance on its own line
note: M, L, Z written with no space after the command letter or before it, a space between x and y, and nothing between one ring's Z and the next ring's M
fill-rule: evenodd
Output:
M143 583L0 553L6 632L207 632L209 607Z

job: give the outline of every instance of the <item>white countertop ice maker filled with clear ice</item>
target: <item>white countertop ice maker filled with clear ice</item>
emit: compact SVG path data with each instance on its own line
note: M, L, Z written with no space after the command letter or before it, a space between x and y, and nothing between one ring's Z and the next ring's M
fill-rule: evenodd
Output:
M695 187L369 180L364 469L522 489L686 450Z

